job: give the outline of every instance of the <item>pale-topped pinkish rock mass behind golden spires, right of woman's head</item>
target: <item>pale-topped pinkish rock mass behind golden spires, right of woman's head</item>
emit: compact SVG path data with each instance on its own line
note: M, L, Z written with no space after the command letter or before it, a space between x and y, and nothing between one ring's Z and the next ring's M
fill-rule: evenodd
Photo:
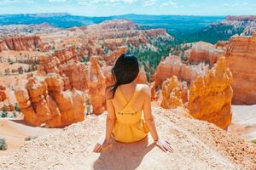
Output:
M176 76L185 82L191 82L196 77L203 75L207 71L207 65L186 65L180 57L171 55L162 59L157 66L154 81L155 86L160 86L167 78Z

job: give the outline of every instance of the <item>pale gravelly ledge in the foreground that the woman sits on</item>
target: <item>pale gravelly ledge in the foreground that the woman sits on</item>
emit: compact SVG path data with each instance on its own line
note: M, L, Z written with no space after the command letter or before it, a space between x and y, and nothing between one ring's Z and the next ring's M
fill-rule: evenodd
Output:
M105 114L88 117L55 133L33 139L14 154L0 157L4 170L252 169L256 146L211 123L153 108L160 136L174 148L164 153L151 137L133 144L112 141L102 154L92 153L105 131Z

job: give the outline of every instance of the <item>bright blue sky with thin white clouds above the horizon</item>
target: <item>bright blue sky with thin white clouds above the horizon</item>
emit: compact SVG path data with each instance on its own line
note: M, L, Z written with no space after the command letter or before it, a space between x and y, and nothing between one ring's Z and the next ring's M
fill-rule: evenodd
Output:
M256 14L256 0L0 0L0 14Z

